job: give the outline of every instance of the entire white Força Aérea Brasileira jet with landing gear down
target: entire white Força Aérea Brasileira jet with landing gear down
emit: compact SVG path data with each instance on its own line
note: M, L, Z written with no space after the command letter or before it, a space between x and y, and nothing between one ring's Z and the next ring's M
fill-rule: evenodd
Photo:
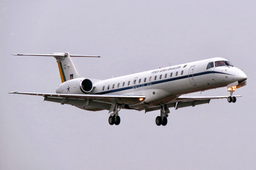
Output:
M57 60L62 83L57 87L56 94L9 92L10 94L43 96L44 101L68 104L87 111L108 110L111 113L108 118L110 125L121 122L118 116L121 109L135 109L145 113L160 110L156 124L165 126L170 107L194 107L220 98L227 98L229 103L235 103L236 97L242 96L233 96L233 92L245 86L247 79L242 70L225 58L210 58L107 80L94 80L81 78L71 57L100 56L69 53L13 55L53 56ZM220 87L227 87L230 96L182 96Z

